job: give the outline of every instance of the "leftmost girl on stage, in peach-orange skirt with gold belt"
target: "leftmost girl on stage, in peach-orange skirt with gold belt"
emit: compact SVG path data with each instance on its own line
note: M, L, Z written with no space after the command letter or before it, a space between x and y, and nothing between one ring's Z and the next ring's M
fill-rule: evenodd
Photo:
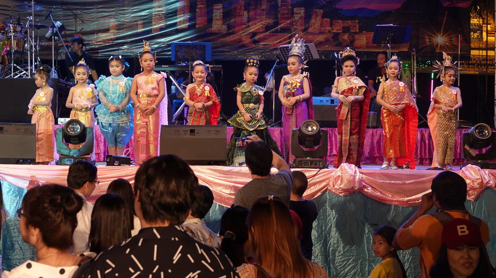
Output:
M36 163L48 164L54 160L54 114L52 113L52 97L54 89L48 86L52 68L43 65L34 75L36 90L29 101L28 114L33 114L31 123L36 124Z

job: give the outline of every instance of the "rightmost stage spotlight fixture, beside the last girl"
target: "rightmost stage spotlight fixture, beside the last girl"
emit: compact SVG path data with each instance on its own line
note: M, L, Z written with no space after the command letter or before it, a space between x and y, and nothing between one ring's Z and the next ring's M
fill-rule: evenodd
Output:
M496 169L496 162L489 160L496 159L496 135L491 128L483 123L479 123L468 132L462 134L463 157L467 160L462 167L469 164L479 166L481 169ZM483 153L476 153L475 149L488 148Z

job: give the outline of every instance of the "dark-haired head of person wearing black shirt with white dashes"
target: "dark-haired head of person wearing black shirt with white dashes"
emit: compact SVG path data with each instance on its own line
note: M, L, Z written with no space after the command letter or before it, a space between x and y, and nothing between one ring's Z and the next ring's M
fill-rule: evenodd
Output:
M134 179L136 215L152 225L181 225L198 192L198 179L184 160L174 154L152 157Z

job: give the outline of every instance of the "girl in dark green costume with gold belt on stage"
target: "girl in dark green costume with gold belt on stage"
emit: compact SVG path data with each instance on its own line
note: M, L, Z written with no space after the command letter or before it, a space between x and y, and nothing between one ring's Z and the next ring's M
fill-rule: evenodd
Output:
M254 84L258 78L258 65L257 59L248 58L243 73L246 82L234 88L234 91L238 92L236 104L239 111L228 121L233 125L233 135L227 146L227 164L230 166L239 166L240 163L245 162L244 148L236 148L235 145L235 138L237 137L245 138L256 135L269 144L273 151L282 156L276 142L269 135L262 113L263 91L265 89Z

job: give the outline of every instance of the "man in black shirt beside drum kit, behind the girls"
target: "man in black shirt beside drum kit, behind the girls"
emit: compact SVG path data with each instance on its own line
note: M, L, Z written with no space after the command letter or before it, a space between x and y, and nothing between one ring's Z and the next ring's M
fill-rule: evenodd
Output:
M74 37L70 39L70 46L72 47L73 51L65 53L65 66L67 67L66 80L69 82L74 82L74 73L72 72L72 70L80 60L84 59L84 62L90 68L90 75L93 78L93 81L96 81L98 79L98 75L95 70L95 62L93 61L93 57L91 57L90 54L83 51L83 38ZM69 58L69 55L72 58L72 61Z

